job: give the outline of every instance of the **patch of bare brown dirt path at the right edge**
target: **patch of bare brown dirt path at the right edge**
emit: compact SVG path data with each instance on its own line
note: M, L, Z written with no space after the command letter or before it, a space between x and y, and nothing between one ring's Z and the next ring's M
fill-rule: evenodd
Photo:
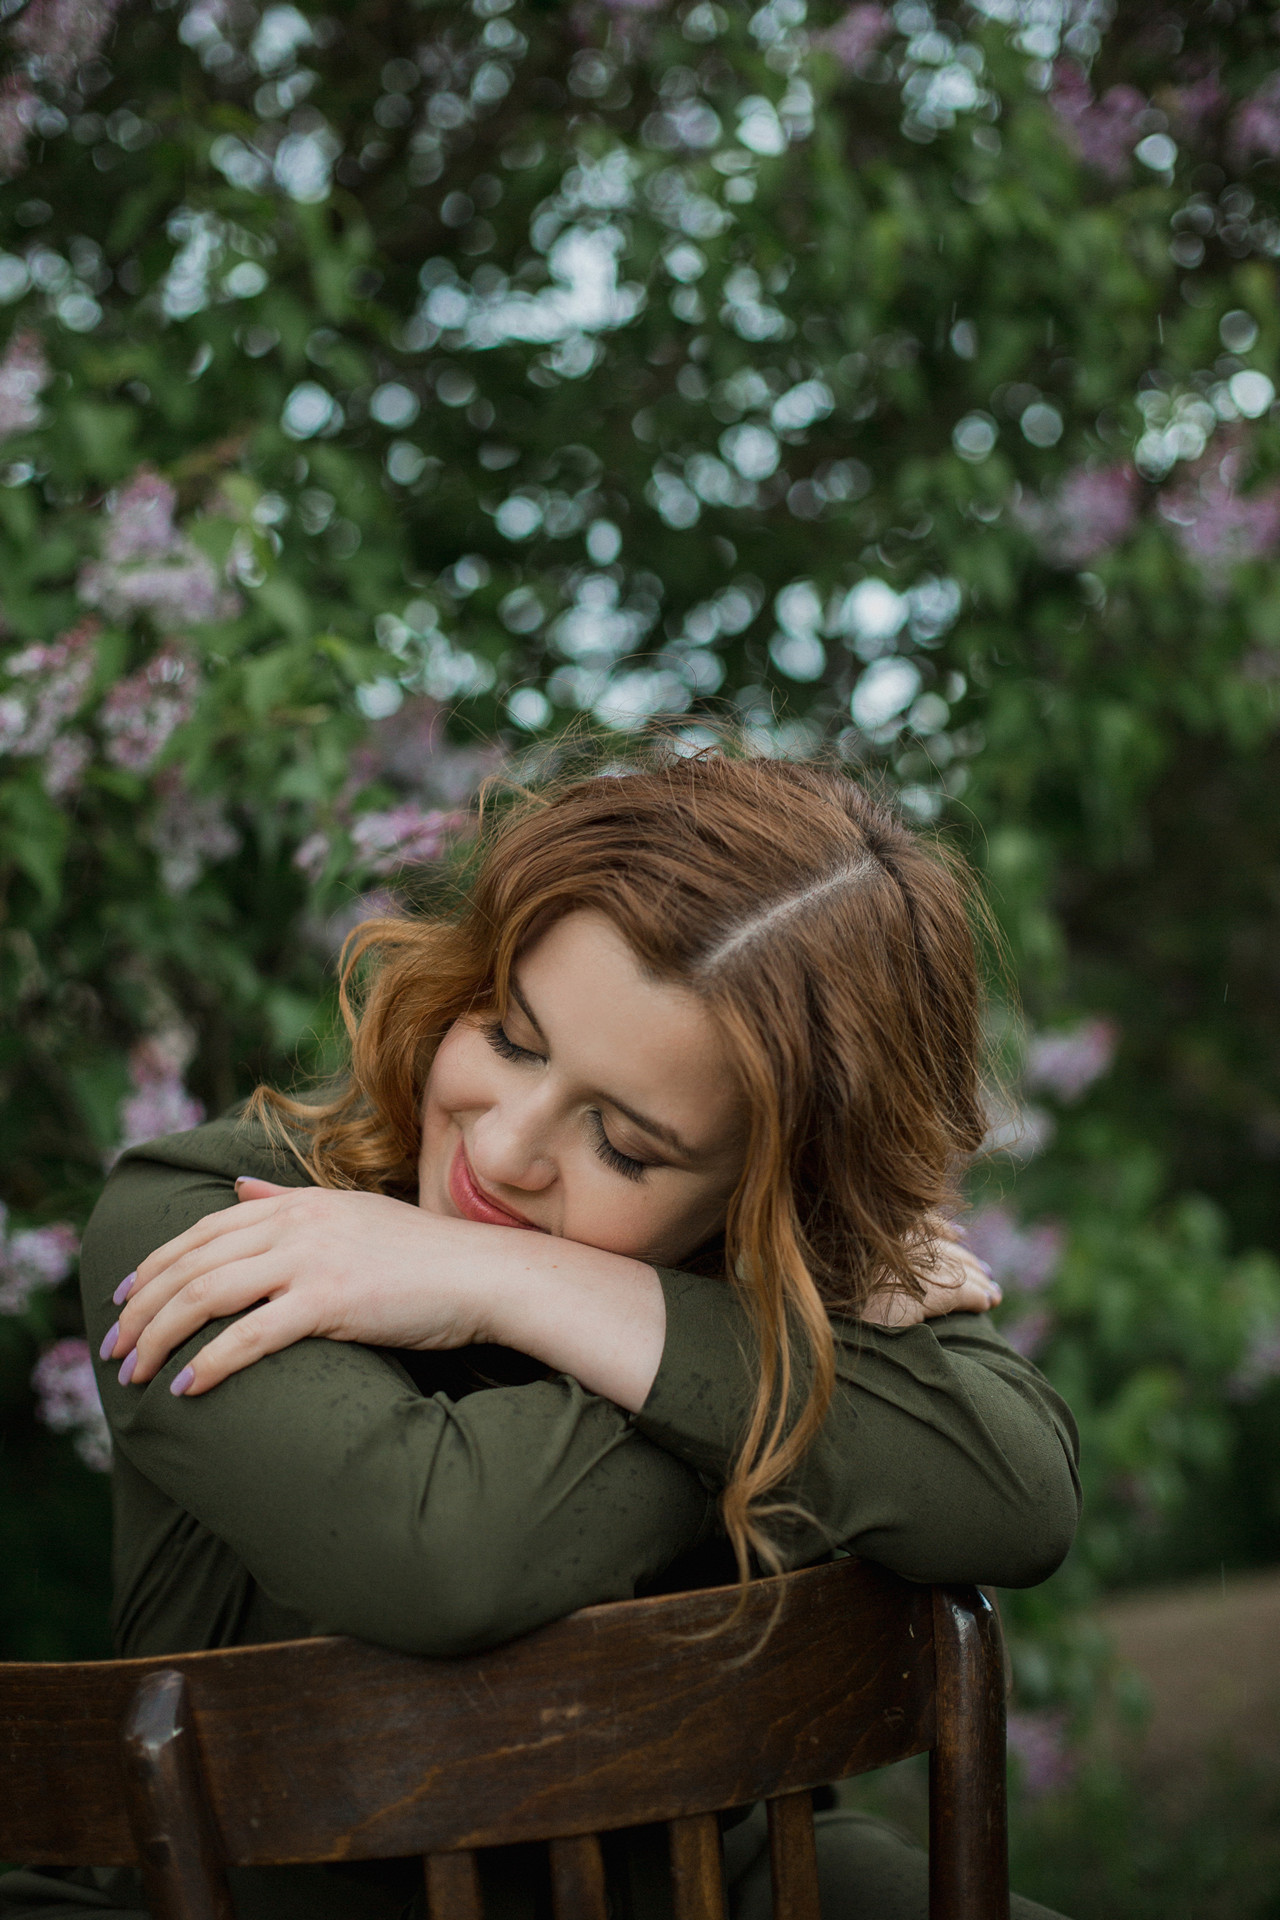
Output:
M1100 1611L1150 1692L1144 1772L1173 1782L1226 1753L1280 1770L1280 1571L1126 1594Z

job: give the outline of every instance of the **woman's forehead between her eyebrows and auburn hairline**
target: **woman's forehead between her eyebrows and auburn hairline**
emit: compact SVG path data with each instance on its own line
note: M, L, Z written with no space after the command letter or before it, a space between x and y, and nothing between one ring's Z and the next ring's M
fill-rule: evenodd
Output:
M566 914L514 979L560 1071L710 1146L737 1117L723 1035L687 987L652 979L603 914Z

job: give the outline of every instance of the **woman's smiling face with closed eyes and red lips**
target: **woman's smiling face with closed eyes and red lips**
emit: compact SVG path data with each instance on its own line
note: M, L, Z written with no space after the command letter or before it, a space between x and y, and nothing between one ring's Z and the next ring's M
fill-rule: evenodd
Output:
M516 964L503 1025L459 1020L422 1098L418 1206L677 1265L723 1227L745 1152L723 1041L601 914Z

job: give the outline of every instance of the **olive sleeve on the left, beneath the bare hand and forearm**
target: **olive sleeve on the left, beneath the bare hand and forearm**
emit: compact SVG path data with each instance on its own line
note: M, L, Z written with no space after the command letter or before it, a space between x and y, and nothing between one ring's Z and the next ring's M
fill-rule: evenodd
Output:
M186 1148L159 1142L161 1158L134 1154L107 1183L83 1260L94 1344L123 1275L234 1204L234 1171L267 1171L244 1142L226 1160L225 1133L213 1152L219 1129L201 1133ZM493 1645L629 1597L712 1519L691 1467L564 1377L422 1394L391 1356L303 1340L211 1394L175 1398L169 1380L219 1325L144 1388L100 1369L113 1440L173 1503L165 1551L192 1555L180 1515L192 1517L276 1607L315 1626L416 1653ZM163 1532L154 1503L148 1524ZM121 1551L129 1559L127 1540Z

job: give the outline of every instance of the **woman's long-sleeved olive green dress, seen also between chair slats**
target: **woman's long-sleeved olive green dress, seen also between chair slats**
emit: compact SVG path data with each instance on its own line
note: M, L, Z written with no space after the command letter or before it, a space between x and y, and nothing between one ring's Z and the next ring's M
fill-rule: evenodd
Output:
M121 1158L81 1261L94 1350L121 1279L234 1206L238 1173L307 1183L234 1116ZM344 1632L451 1655L576 1607L731 1578L716 1496L752 1400L747 1317L720 1279L660 1279L666 1346L635 1415L501 1348L407 1354L330 1340L273 1354L198 1400L175 1398L171 1379L221 1321L144 1388L102 1365L115 1440L117 1651ZM848 1548L913 1580L1044 1580L1071 1544L1079 1480L1075 1425L1036 1369L977 1315L904 1332L837 1319L835 1336L835 1400L787 1486L810 1515L785 1542L789 1563ZM743 1920L768 1912L754 1834L745 1820L727 1836ZM641 1834L616 1851L620 1920L658 1920L652 1847ZM827 1920L923 1920L923 1855L887 1828L825 1814L823 1860L823 1884L831 1872L839 1882ZM510 1920L541 1908L520 1849L487 1870L491 1907ZM850 1874L862 1891L842 1901ZM246 1870L236 1905L244 1920L401 1920L420 1912L418 1878L416 1862ZM132 1872L0 1880L0 1920L88 1920L140 1905Z

